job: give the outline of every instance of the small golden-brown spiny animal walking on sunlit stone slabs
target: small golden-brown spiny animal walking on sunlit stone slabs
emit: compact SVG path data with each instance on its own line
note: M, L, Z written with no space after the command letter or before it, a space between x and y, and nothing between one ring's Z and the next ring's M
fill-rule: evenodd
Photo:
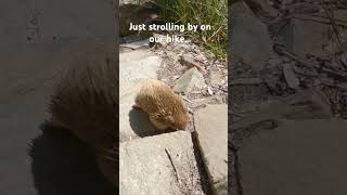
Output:
M136 107L149 114L150 121L159 130L184 130L189 116L181 99L159 80L145 82L136 96Z

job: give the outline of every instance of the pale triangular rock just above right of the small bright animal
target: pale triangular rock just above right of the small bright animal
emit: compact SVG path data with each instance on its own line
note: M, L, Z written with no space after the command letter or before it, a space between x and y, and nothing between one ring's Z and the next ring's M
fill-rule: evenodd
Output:
M174 91L179 93L189 93L193 89L202 89L205 84L203 74L196 67L185 72L174 86Z

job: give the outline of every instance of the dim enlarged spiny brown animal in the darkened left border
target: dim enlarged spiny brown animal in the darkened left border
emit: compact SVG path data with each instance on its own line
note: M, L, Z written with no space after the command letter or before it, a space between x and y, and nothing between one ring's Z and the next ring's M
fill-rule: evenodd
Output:
M73 55L49 109L53 123L69 129L95 150L100 169L117 183L118 62L114 50L113 44L98 44Z

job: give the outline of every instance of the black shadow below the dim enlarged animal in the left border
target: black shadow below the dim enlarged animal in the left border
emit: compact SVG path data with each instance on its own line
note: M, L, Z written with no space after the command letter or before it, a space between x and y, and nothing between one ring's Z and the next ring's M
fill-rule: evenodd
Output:
M88 147L65 129L44 122L29 147L31 172L40 195L114 195Z

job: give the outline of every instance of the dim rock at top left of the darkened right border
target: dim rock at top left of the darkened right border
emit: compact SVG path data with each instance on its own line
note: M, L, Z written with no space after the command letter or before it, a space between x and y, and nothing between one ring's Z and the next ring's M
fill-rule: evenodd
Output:
M264 68L272 52L267 26L243 1L233 3L229 13L229 22L233 27L230 52L256 70Z

